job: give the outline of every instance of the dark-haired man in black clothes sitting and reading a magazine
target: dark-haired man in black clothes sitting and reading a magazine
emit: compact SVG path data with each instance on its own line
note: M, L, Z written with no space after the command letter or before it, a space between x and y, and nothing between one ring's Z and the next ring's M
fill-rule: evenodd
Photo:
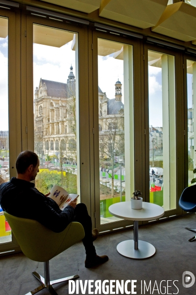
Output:
M56 202L39 192L34 183L39 172L38 155L30 150L21 152L16 160L17 177L0 185L0 206L11 215L34 219L55 233L62 232L71 221L80 222L84 228L83 244L86 250L85 267L93 267L108 261L106 255L96 254L93 241L98 230L92 231L92 221L84 204L76 205L76 199L63 211Z

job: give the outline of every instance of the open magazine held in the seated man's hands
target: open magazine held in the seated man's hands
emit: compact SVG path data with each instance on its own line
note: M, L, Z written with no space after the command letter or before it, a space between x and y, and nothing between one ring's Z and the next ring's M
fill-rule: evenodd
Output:
M57 203L61 210L67 207L69 203L77 197L79 197L79 195L69 194L64 188L58 185L54 185L52 187L48 196L48 198L54 200Z

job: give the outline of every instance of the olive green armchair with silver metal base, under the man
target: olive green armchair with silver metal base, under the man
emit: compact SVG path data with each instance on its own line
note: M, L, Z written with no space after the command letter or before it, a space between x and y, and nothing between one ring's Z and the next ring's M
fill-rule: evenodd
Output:
M37 272L32 272L41 286L26 295L36 294L44 288L47 288L50 294L57 295L52 285L79 277L72 275L50 281L49 260L83 239L84 229L80 223L71 222L63 232L54 233L36 220L16 217L7 212L4 212L4 215L25 256L34 261L44 262L44 278Z

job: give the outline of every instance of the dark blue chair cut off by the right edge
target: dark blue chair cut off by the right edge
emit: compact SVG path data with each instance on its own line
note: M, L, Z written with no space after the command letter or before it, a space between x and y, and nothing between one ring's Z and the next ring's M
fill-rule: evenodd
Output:
M187 212L196 212L196 185L186 187L180 197L179 206ZM185 228L196 233L195 229ZM196 236L189 239L190 242L196 240Z

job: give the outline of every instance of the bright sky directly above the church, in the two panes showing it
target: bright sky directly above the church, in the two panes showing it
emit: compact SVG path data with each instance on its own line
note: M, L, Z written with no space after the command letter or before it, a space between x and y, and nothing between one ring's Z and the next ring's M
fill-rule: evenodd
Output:
M46 45L33 45L33 86L39 86L40 78L67 83L70 66L75 75L75 51L72 41L56 48ZM52 59L51 59L52 57ZM123 60L98 56L98 86L106 92L108 98L115 97L115 83L118 79L123 84Z

